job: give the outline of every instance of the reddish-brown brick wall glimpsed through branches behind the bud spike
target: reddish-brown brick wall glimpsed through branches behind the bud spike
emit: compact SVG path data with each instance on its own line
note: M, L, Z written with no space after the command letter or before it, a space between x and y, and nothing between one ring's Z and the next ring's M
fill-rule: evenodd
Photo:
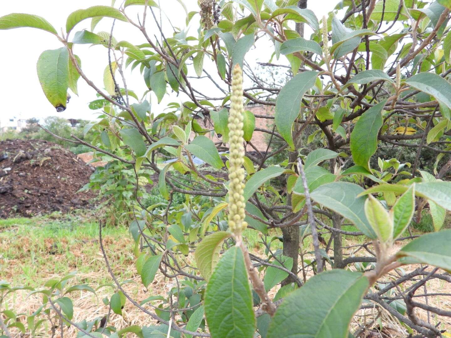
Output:
M274 106L272 105L247 105L245 110L251 111L254 115L273 115L274 114ZM198 119L198 123L208 130L213 129L212 123L210 123L206 119L206 123L204 123L203 120ZM272 130L272 125L274 124L274 119L262 119L262 118L255 118L255 128L262 128L262 129L269 129ZM220 142L221 139L217 137L216 133L213 137L211 137L210 133L207 133L205 136L212 139L213 142ZM267 148L267 139L269 134L265 132L259 132L254 131L252 134L251 143L255 148L258 149L258 151L264 152ZM255 149L248 145L247 151L255 151Z

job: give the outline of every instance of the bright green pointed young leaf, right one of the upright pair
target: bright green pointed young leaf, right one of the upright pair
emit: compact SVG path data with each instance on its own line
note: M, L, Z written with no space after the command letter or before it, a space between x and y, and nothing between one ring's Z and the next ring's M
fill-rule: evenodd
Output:
M390 213L393 217L393 239L398 238L410 224L415 211L415 184L400 196Z

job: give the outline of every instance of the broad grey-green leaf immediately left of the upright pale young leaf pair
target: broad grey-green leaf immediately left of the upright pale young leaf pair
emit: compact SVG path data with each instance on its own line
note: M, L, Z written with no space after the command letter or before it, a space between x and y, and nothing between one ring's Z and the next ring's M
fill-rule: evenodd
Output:
M364 196L357 197L364 188L354 183L333 182L324 184L310 193L313 201L322 204L349 219L369 238L376 238L364 212Z

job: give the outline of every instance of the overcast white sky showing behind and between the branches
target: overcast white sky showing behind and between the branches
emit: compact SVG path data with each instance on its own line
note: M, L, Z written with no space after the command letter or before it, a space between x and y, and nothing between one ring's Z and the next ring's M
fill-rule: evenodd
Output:
M117 1L119 3L119 0ZM309 0L308 8L312 9L318 17L327 14L336 5L337 0ZM184 0L188 11L198 11L197 0ZM93 5L110 5L110 0L22 0L22 1L1 1L0 16L9 13L28 13L36 14L46 18L58 32L61 27L65 27L67 16L73 11L81 8L87 8ZM161 0L161 8L166 13L174 26L185 28L184 9L176 0ZM131 18L136 18L138 10L142 10L141 6L131 6L128 12ZM157 13L156 13L157 14ZM158 14L157 14L158 15ZM154 39L153 35L158 36L156 27L153 27L149 16L147 17L148 33ZM171 27L167 22L167 18L162 16L165 32L168 36L172 36ZM191 25L195 27L198 16L193 18ZM110 31L112 19L104 18L96 27L98 31ZM69 41L74 36L74 32L83 28L89 29L91 19L84 20L79 23L71 32ZM191 35L197 37L194 29L190 30ZM310 32L306 32L306 37ZM139 30L130 24L116 21L115 30L113 32L117 41L126 40L133 44L141 44L144 41ZM42 51L48 49L60 48L61 43L51 34L42 30L33 28L18 28L10 30L0 30L0 97L2 98L2 107L0 112L0 126L5 125L5 121L12 117L28 119L31 117L45 118L51 115L59 115L63 118L70 119L95 119L96 114L93 110L89 110L88 102L95 100L96 95L91 87L89 87L82 78L78 80L78 94L75 96L71 93L71 100L67 105L67 109L62 113L57 113L55 108L47 101L42 92L36 74L36 62ZM103 88L103 70L108 63L107 49L103 46L75 45L75 54L79 55L82 60L82 69L97 87ZM272 49L267 53L262 53L262 49L258 51L249 51L246 60L249 64L256 64L257 61L266 62L271 57ZM284 58L283 56L281 58ZM147 90L144 80L136 68L132 73L127 71L127 85L133 89L138 96ZM206 88L207 90L208 88ZM202 88L203 90L203 88ZM216 93L217 95L217 93ZM160 112L164 109L168 102L179 101L180 98L175 96L166 97L160 105L152 98L152 110Z

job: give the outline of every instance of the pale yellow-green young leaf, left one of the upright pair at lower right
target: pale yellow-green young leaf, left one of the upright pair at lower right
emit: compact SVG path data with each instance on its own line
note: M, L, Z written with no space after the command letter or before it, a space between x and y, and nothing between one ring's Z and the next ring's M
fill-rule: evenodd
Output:
M373 195L368 195L364 209L369 224L379 240L384 243L391 242L393 240L393 220L381 202L377 201Z

